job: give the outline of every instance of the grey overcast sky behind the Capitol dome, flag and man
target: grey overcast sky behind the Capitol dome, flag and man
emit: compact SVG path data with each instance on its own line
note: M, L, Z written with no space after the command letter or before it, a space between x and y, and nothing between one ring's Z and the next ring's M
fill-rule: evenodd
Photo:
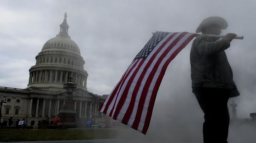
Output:
M204 18L220 16L229 24L223 34L244 36L226 53L241 93L230 101L238 104L240 118L249 118L256 112L255 6L255 0L0 0L0 86L26 88L35 56L58 34L65 11L89 74L87 89L98 95L111 92L151 32L195 32ZM198 106L191 91L191 43L169 64L157 101L179 97Z

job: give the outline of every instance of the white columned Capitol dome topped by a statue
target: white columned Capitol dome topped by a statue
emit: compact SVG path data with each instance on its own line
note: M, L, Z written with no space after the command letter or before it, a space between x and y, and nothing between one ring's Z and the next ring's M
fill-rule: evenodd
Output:
M26 89L64 91L63 83L72 77L77 88L87 90L87 71L80 49L68 35L67 13L60 25L60 32L49 39L35 57L36 64L29 69L29 84Z

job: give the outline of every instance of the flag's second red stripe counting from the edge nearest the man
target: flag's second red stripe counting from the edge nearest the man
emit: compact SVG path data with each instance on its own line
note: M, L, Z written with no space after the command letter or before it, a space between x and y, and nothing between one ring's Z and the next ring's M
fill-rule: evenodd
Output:
M177 45L177 42L180 41L180 39L182 39L185 35L187 34L187 32L183 32L182 34L180 34L169 46L168 48L166 48L166 50L163 52L163 54L159 57L159 59L157 60L156 64L154 65L153 69L151 70L151 73L148 76L147 81L145 82L143 91L141 93L140 96L140 101L138 104L138 108L137 108L137 112L136 112L136 116L134 119L134 123L132 125L132 127L134 129L138 129L139 123L140 123L140 118L141 118L141 114L143 111L143 107L144 107L144 103L145 103L145 99L146 96L148 94L148 88L151 84L152 79L154 78L154 75L157 71L157 68L159 67L160 63L163 61L163 58L166 57L166 55L169 53L169 51L175 46Z

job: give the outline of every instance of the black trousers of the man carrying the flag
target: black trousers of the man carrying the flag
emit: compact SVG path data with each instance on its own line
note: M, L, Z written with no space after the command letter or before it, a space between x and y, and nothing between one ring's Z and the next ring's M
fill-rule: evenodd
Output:
M227 101L230 90L209 87L192 89L204 112L204 143L227 143L230 122Z

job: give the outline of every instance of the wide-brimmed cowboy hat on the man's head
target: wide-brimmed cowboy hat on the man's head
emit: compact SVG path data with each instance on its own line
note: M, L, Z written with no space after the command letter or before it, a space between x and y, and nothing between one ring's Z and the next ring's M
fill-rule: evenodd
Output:
M227 21L224 20L224 18L222 18L222 17L208 17L200 23L200 25L196 29L195 33L202 32L202 30L205 26L209 26L209 25L213 25L213 24L219 25L221 27L221 30L226 29L228 26Z

